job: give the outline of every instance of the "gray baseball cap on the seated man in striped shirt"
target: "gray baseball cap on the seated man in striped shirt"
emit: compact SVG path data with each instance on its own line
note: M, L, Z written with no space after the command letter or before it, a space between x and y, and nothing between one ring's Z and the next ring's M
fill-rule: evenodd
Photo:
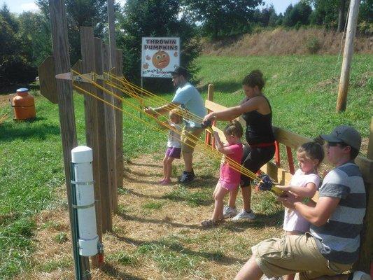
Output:
M321 134L320 137L328 142L344 142L356 150L360 150L360 133L349 125L339 125L330 134Z

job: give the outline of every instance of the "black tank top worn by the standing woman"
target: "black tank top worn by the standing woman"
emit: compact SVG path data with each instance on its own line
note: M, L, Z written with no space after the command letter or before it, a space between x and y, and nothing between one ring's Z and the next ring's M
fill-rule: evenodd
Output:
M246 141L249 145L267 144L274 142L272 131L272 107L267 97L263 96L269 105L271 113L262 115L258 111L251 111L242 114L246 121ZM242 103L247 102L245 98Z

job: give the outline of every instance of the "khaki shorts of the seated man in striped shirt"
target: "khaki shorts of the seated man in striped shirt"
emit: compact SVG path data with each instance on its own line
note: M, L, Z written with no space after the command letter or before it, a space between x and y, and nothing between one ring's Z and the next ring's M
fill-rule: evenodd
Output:
M309 280L342 274L352 267L352 264L344 265L324 258L309 233L267 239L253 246L252 251L268 278L300 272L300 280Z

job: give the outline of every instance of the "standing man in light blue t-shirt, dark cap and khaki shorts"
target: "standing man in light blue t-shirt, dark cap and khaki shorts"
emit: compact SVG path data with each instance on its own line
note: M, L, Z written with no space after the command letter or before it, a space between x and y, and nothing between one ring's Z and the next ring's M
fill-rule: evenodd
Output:
M178 180L180 183L190 183L195 179L195 172L192 168L193 151L196 142L202 132L204 132L201 124L207 112L201 94L188 82L188 71L178 66L174 71L171 71L171 75L172 83L177 88L172 101L169 104L157 108L149 108L145 111L156 116L157 114L165 114L176 106L181 106L181 108L190 112L189 117L183 116L185 126L181 135L181 152L183 153L185 170Z

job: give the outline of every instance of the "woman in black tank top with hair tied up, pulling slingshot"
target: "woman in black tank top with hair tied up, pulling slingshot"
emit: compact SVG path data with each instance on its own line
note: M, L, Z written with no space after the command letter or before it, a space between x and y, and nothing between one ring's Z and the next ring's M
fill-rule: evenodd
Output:
M274 156L274 134L272 132L272 108L267 97L262 93L265 86L263 74L259 70L251 71L242 81L246 97L238 106L223 111L209 113L206 120L233 120L242 116L246 122L246 141L242 165L251 172L258 172ZM225 218L232 220L253 220L255 214L251 211L251 184L247 176L241 174L241 193L244 199L244 209L237 214L235 208L238 189L230 193L229 205L224 207Z

